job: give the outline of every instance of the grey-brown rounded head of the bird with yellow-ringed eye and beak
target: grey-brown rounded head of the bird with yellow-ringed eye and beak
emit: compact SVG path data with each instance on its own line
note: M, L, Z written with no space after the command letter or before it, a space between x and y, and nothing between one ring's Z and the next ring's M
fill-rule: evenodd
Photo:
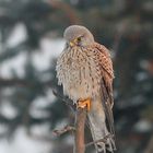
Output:
M92 33L81 25L71 25L67 27L63 37L67 40L67 45L70 47L86 47L94 43Z

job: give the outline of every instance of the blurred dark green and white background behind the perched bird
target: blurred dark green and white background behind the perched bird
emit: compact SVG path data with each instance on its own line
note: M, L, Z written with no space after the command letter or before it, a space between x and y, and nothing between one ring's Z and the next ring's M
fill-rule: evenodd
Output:
M153 153L152 0L0 0L0 153L72 153L71 132L52 134L74 119L52 94L71 24L110 50L117 153Z

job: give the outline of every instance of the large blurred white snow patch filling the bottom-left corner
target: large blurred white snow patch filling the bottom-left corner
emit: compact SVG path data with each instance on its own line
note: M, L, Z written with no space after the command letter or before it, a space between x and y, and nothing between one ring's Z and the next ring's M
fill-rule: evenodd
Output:
M17 129L13 140L0 140L0 153L49 153L50 142L35 140L21 127Z

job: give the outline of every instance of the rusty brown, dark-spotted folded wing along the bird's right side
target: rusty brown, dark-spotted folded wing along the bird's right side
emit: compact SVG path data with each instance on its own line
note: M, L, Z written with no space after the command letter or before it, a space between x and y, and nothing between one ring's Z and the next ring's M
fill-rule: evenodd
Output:
M114 79L114 70L113 70L113 61L110 59L109 50L97 43L95 43L94 48L96 49L96 59L98 66L101 68L102 73L102 83L101 90L103 95L103 106L105 109L106 118L109 125L109 129L111 134L115 134L114 130L114 117L113 117L113 79Z

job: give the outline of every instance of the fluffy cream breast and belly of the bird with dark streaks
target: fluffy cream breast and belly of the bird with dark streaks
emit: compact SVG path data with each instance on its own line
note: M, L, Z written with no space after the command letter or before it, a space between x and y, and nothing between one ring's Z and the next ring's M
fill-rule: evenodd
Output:
M63 93L73 101L95 95L99 90L99 70L87 49L64 51L57 61L57 76Z

